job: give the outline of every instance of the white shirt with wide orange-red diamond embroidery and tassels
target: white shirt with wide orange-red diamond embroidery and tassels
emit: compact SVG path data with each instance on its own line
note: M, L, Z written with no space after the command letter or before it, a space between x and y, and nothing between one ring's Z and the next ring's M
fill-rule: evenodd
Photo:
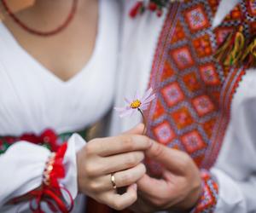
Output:
M147 135L189 153L201 169L194 212L256 212L256 2L172 1L161 16L141 7L160 1L124 2L115 106L154 89ZM140 120L113 113L112 134ZM147 164L160 172L154 159Z

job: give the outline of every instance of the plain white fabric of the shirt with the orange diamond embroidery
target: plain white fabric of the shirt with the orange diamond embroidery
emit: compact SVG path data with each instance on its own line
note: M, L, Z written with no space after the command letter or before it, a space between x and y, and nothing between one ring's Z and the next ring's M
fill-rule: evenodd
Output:
M136 90L144 93L149 80L154 51L165 14L157 18L146 11L135 20L129 10L136 1L125 0L123 41L119 66L119 89L115 107L124 106L124 97ZM225 2L225 3L224 3ZM224 15L230 12L226 4L236 5L236 0L223 0L218 8L220 18L214 19L218 26ZM231 8L232 9L232 8ZM120 119L113 112L111 134L129 130L140 121L137 113L131 118ZM231 106L231 120L224 137L224 146L212 168L219 184L217 213L256 212L256 70L244 76Z

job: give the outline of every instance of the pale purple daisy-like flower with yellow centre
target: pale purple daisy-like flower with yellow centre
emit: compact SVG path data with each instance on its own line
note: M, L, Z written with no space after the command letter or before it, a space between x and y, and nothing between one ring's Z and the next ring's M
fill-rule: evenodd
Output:
M125 98L125 107L114 107L114 109L119 112L119 117L124 118L126 116L131 116L135 112L140 112L143 116L143 123L146 126L146 121L143 115L143 111L147 110L150 102L155 98L155 94L153 93L153 89L149 88L145 95L141 97L138 93L133 97L133 99Z

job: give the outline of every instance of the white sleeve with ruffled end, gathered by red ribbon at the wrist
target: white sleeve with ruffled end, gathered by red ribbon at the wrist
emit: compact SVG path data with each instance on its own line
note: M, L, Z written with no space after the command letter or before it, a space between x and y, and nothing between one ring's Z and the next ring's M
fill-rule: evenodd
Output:
M63 164L65 178L61 179L73 199L77 196L77 164L76 153L85 141L80 135L73 134L68 140ZM39 187L43 181L45 163L50 151L26 141L16 142L6 153L0 155L0 210L10 199L28 193Z

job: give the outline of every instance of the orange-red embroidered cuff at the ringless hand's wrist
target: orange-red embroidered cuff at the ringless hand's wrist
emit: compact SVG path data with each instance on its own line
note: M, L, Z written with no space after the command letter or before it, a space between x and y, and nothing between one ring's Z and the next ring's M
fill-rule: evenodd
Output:
M203 192L190 213L212 213L218 201L218 183L207 170L201 170Z

